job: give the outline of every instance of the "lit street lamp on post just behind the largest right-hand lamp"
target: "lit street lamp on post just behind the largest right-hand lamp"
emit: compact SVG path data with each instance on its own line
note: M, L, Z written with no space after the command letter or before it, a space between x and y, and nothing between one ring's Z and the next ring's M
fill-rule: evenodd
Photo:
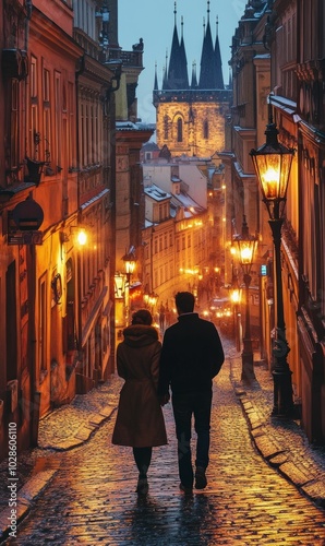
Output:
M253 345L251 339L250 284L252 277L250 273L257 239L249 234L245 216L243 217L242 232L239 235L234 235L233 240L238 245L239 261L244 272L243 281L245 285L245 332L243 337L243 352L241 354L241 379L250 383L255 380Z

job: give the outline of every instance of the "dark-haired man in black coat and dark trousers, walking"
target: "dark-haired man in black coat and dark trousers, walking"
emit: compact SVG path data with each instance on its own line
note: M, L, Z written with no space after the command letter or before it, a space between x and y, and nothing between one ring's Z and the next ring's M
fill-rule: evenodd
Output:
M191 422L197 435L195 487L207 485L213 378L225 360L219 334L213 322L201 319L194 310L195 298L179 292L174 298L178 322L168 328L162 341L158 395L161 405L172 392L172 410L178 439L180 488L192 492L194 473L191 458Z

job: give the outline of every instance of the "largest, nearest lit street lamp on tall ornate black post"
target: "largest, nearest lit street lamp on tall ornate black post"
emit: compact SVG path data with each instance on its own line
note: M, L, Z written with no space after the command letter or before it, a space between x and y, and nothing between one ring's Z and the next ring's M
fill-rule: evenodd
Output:
M251 150L254 168L261 187L263 202L266 204L269 225L275 248L275 284L276 284L276 335L273 345L275 367L274 378L274 415L290 415L293 412L293 393L291 370L287 363L290 351L286 339L284 317L284 295L281 278L281 227L287 201L287 188L293 149L278 142L279 131L273 121L272 104L268 104L268 124L266 126L266 143L257 150Z

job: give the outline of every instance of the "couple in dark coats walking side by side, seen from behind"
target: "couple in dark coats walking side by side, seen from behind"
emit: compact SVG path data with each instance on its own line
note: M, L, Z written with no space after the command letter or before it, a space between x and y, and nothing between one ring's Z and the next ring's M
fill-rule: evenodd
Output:
M189 292L176 295L178 322L169 327L162 346L152 316L136 311L132 324L117 349L118 373L125 382L120 393L112 443L133 448L139 470L136 491L148 491L147 472L153 447L167 443L161 406L170 399L178 439L180 488L190 494L207 485L212 380L219 372L225 355L213 322L194 311L195 298ZM192 416L197 435L195 473L192 466Z

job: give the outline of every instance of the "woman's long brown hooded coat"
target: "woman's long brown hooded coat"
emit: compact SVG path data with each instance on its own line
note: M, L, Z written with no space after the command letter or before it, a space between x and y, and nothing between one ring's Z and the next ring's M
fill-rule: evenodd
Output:
M118 373L125 380L112 443L147 448L167 443L161 406L157 396L161 343L157 330L144 324L128 327L118 345Z

